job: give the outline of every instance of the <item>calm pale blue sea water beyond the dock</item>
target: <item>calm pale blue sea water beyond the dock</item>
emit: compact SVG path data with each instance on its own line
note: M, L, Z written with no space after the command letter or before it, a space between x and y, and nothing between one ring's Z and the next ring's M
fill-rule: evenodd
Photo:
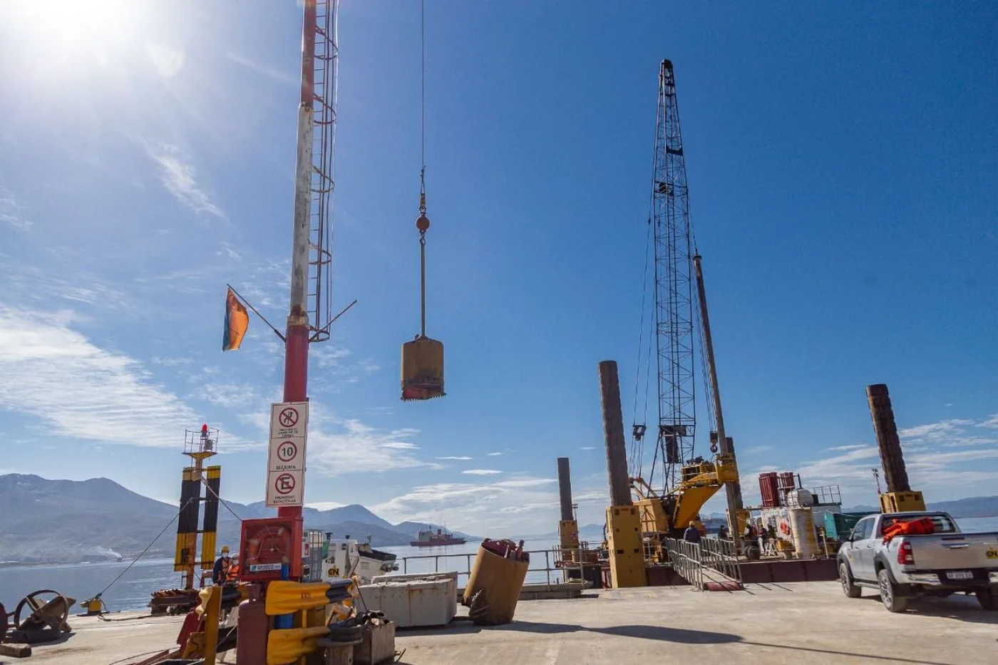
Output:
M972 517L958 519L960 528L968 533L998 531L998 517ZM524 548L545 550L551 541L528 541ZM422 573L439 569L468 570L468 555L478 551L477 542L449 547L381 547L405 559L405 572ZM434 559L433 555L440 555ZM422 558L412 558L422 557ZM553 566L554 562L551 562ZM20 566L0 569L0 602L13 611L17 602L36 589L56 589L77 600L90 598L112 582L129 565L125 562L80 563L73 565ZM403 572L399 561L398 572ZM543 582L547 574L544 554L534 554L530 561L528 582ZM464 577L460 581L463 583ZM114 583L103 598L111 610L141 610L149 602L150 593L162 588L181 585L180 573L173 570L171 559L143 559L135 563L120 580ZM74 610L76 611L76 610Z

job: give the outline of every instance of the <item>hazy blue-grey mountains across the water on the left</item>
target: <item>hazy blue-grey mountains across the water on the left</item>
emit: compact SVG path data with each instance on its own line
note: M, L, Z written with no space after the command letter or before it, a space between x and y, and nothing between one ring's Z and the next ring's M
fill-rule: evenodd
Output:
M37 475L0 475L0 565L78 563L147 556L173 557L178 507L133 492L108 478L49 480ZM227 507L228 506L228 507ZM420 530L435 524L392 524L362 505L329 510L304 508L305 528L331 531L333 537L366 540L375 547L408 545ZM219 545L236 549L240 520L273 517L262 501L226 501L219 507ZM454 531L455 536L480 540ZM150 543L153 543L150 546Z

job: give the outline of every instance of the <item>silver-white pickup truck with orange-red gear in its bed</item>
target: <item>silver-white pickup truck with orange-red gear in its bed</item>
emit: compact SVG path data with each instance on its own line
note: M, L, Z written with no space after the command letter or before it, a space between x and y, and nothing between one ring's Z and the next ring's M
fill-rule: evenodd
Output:
M928 517L932 533L895 535L884 529ZM838 549L838 577L849 598L876 589L884 607L903 612L908 599L975 594L981 607L998 609L998 533L961 533L945 512L892 512L856 522Z

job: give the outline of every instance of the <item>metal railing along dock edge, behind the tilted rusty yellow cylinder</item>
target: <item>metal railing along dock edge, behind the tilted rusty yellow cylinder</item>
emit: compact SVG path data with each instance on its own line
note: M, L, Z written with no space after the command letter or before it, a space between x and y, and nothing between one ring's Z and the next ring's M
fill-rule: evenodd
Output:
M584 548L562 548L552 547L551 549L524 550L530 555L530 562L527 567L527 577L525 584L545 584L549 589L553 584L565 584L570 580L570 571L578 571L578 580L582 583L585 579L583 569L585 564L584 552L591 551ZM574 556L573 556L574 555ZM395 559L399 564L399 573L409 574L429 574L440 572L456 572L457 585L464 586L467 578L471 575L474 567L476 552L464 554L421 554L416 556L402 556ZM543 564L543 565L542 565ZM596 565L591 563L589 565ZM463 583L462 583L463 578Z

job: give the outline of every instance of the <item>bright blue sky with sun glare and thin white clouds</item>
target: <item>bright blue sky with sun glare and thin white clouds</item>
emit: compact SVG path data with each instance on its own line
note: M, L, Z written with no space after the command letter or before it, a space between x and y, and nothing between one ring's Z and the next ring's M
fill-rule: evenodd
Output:
M176 501L207 421L224 495L259 500L281 348L257 321L220 340L227 282L286 312L300 8L35 4L0 5L0 469ZM419 6L343 0L334 289L359 303L312 349L307 502L552 530L568 455L602 521L596 368L620 362L630 421L665 57L747 500L778 468L872 502L880 381L916 488L995 493L998 8L426 4L448 395L398 400Z

